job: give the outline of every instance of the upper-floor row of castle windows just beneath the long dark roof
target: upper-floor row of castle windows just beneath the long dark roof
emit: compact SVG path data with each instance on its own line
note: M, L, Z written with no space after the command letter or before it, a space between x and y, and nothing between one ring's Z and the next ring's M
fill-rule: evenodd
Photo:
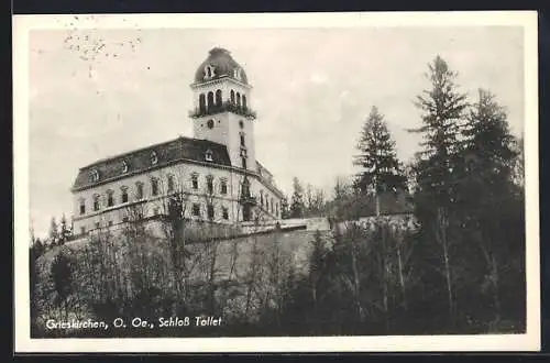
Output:
M151 195L158 196L161 193L161 186L160 186L161 180L158 178L152 178L151 179ZM227 195L228 194L228 182L226 179L220 180L220 194L221 195ZM121 194L120 194L120 202L125 204L129 201L129 191L127 186L122 186L121 188ZM199 189L199 177L198 174L193 174L191 175L191 189L198 190ZM208 194L213 195L215 194L215 186L213 186L213 176L208 175L206 177L206 190ZM166 177L166 191L168 194L176 191L176 180L174 175L168 175ZM141 200L144 198L144 184L142 182L138 182L135 184L135 200ZM113 207L116 205L116 198L114 198L114 191L113 190L107 190L107 207ZM92 209L94 211L100 210L101 205L100 205L100 195L94 195L92 197ZM79 212L80 215L86 215L86 199L81 198L80 199L80 206L79 206Z

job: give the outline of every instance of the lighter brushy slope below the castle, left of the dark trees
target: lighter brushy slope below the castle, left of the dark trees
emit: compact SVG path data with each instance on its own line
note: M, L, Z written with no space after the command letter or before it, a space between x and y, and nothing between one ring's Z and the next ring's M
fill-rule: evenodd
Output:
M330 239L330 231L320 233L323 240ZM228 321L257 320L258 305L280 302L288 276L307 274L315 234L302 224L193 243L186 246L184 268L176 267L170 255L174 250L157 237L132 243L123 237L78 240L53 248L36 261L34 299L41 312L35 333L58 333L44 331L52 316L114 319L219 311ZM70 261L67 306L59 304L52 278L52 265L59 253ZM82 331L73 333L86 336Z

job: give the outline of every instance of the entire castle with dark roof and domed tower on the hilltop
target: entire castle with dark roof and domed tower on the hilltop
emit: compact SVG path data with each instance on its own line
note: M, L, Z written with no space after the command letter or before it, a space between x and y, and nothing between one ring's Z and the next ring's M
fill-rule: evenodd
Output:
M190 85L194 138L177 138L81 167L73 185L74 231L168 213L217 223L280 219L283 193L256 160L251 90L244 69L212 48Z

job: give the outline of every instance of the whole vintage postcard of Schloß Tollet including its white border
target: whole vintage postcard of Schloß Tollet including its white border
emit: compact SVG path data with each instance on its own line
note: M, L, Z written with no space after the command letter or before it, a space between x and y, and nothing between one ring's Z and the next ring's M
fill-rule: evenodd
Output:
M13 33L16 352L540 350L536 12Z

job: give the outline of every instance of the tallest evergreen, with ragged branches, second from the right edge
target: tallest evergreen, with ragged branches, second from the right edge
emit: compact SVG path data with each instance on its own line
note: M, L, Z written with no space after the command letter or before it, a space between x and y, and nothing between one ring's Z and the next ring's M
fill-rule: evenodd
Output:
M448 316L453 323L457 312L457 278L453 275L455 264L452 261L452 244L458 241L455 233L461 229L460 221L454 217L455 184L468 103L466 95L458 90L457 73L440 56L429 65L427 78L431 88L418 96L416 102L424 111L422 125L410 130L424 136L424 150L417 154L414 170L417 177L416 217L422 227L424 240L428 242L424 246L426 264L441 264L439 271L446 286L443 294L447 296ZM429 245L429 242L437 248ZM433 260L430 261L428 256Z

